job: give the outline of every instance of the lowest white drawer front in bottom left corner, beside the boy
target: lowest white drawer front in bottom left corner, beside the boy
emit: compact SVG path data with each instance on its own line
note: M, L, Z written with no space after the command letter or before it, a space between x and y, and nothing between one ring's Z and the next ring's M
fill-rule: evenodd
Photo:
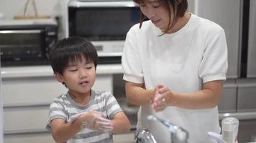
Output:
M4 134L4 143L55 143L50 132Z

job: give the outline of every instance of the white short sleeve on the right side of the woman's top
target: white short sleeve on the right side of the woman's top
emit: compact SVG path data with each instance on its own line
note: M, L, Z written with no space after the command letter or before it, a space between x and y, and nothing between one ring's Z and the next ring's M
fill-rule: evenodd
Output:
M203 59L199 67L199 77L203 82L225 80L228 68L227 41L224 29L216 32L206 43Z

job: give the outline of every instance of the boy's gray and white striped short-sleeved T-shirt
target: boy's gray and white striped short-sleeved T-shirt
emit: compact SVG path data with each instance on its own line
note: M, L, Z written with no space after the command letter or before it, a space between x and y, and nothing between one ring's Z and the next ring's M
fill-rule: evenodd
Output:
M68 122L71 116L96 110L104 114L108 119L113 119L114 115L122 112L116 98L110 92L96 92L91 90L91 99L86 106L79 106L70 97L70 94L62 94L55 98L50 104L50 112L47 120L47 129L50 129L52 119L63 119ZM83 129L74 137L68 140L68 143L98 143L98 142L113 142L113 137L110 132L100 132L91 129Z

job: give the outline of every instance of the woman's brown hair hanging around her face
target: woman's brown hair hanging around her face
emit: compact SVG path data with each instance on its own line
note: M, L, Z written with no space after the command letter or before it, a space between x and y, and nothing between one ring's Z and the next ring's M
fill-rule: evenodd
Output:
M133 0L137 4L143 4L147 0ZM174 24L178 21L178 18L184 16L186 13L186 10L188 9L188 1L187 0L159 0L162 4L165 4L165 6L168 9L169 14L169 24L168 28L165 29L164 33L166 33L168 30L173 28ZM173 19L171 14L175 14L173 16ZM140 28L142 27L142 23L145 19L145 15L140 12ZM170 21L173 21L172 23Z

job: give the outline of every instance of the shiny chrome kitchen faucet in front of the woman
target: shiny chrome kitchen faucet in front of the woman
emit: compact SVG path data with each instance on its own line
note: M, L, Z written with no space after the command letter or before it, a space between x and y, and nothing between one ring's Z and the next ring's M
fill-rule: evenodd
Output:
M154 121L154 122L160 122L165 125L165 127L168 127L168 130L171 134L171 142L172 143L188 143L188 131L186 129L183 129L182 127L178 127L175 124L172 124L168 120L160 119L159 117L156 117L155 115L150 115L147 117L147 119ZM138 129L134 136L136 143L157 143L155 141L154 136L150 133L149 129L141 128Z

